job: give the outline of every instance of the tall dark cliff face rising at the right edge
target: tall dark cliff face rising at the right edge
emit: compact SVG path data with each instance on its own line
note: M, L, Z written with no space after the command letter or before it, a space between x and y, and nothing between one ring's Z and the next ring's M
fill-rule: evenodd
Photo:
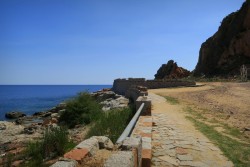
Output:
M219 30L201 45L194 75L234 75L250 64L250 0L225 17Z

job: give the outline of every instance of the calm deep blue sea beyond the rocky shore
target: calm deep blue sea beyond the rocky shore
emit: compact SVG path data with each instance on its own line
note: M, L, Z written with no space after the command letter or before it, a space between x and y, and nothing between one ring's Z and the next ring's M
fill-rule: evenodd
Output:
M5 113L21 111L31 115L48 110L79 92L94 92L112 85L0 85L0 120Z

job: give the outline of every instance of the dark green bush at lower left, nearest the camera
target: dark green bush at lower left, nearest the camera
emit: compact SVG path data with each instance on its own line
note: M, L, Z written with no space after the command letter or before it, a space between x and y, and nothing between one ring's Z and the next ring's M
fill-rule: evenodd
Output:
M63 127L48 128L40 141L30 142L26 148L26 155L31 158L29 165L42 164L43 159L50 159L63 155L73 148L74 143L70 142L68 132Z

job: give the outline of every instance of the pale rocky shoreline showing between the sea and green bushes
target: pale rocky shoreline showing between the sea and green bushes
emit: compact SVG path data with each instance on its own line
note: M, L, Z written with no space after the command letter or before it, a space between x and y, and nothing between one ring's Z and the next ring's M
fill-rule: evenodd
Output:
M115 94L111 89L91 93L91 96L102 105L103 112L129 105L129 99ZM58 119L60 114L66 110L66 105L63 102L48 111L36 112L31 116L19 112L6 113L8 118L15 119L0 121L0 165L8 154L19 156L28 142L38 140L43 136L46 128L59 126ZM69 136L75 143L84 139L83 133L86 133L84 125L77 125L75 128L69 129ZM20 160L22 160L21 157Z

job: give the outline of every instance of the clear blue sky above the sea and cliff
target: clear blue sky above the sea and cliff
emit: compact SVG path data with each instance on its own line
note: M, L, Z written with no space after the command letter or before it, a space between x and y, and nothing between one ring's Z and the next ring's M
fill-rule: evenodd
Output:
M153 79L199 49L244 0L0 0L0 84Z

